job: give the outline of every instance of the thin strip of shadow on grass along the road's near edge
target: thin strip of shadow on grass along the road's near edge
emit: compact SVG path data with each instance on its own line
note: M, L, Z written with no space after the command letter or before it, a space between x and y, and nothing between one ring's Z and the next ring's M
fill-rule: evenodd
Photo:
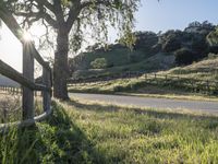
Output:
M120 112L120 110L126 110L126 112L133 112L136 115L148 115L150 117L160 118L160 119L196 119L196 120L217 120L217 116L211 115L195 115L187 114L187 113L172 113L167 110L155 110L155 109L143 109L137 107L122 107L117 105L100 105L100 104L85 104L81 103L78 101L69 101L68 105L75 106L80 109L87 109L87 110L95 110L99 113L110 113L110 112Z

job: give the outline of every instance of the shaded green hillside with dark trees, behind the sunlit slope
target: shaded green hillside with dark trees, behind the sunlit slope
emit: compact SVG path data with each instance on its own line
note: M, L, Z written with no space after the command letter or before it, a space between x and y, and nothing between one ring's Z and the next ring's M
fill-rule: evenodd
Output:
M128 71L156 72L191 65L209 52L218 54L217 32L216 26L207 21L190 23L184 31L135 32L132 50L119 42L108 45L107 49L99 44L89 46L85 52L69 60L71 74L73 79L110 77Z

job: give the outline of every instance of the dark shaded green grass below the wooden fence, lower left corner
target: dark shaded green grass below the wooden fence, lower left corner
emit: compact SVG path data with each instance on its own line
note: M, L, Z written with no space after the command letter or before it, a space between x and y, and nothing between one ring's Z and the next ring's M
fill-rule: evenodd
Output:
M63 107L41 124L0 134L0 163L106 163Z

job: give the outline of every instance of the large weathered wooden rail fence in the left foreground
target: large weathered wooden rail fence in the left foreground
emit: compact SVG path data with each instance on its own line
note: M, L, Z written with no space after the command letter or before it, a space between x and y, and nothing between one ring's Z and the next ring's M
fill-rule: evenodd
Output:
M13 15L2 3L0 5L0 19L23 45L23 74L0 60L0 73L22 85L22 90L17 90L20 93L22 93L23 121L10 125L28 126L37 120L43 120L45 117L51 114L51 69L49 63L44 61L41 56L38 54L34 44L32 42L26 42L23 38L24 31L20 27ZM37 84L34 82L34 59L36 59L38 63L43 66L43 84ZM5 91L15 90L5 86L1 87ZM45 113L37 117L35 117L34 113L34 91L43 92L43 104ZM9 125L0 125L0 130L8 127Z

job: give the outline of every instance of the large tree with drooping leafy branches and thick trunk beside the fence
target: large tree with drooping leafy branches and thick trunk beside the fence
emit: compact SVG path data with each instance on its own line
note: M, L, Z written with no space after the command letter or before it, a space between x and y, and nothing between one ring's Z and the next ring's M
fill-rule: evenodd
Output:
M0 0L10 11L23 17L24 27L38 22L53 32L56 52L53 65L53 95L68 99L69 47L76 51L85 32L107 40L110 26L119 28L119 35L131 43L134 12L140 0ZM124 35L126 34L126 35ZM49 39L48 39L49 42ZM47 43L48 43L47 42Z

